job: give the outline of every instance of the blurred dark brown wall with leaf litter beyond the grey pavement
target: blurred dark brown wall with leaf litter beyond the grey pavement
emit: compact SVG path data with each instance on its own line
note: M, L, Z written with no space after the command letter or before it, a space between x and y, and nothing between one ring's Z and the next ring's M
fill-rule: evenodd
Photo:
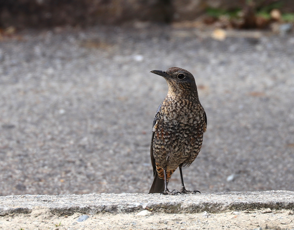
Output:
M292 0L2 0L0 26L93 26L203 21L226 28L267 28L293 22ZM194 25L195 26L195 25Z

